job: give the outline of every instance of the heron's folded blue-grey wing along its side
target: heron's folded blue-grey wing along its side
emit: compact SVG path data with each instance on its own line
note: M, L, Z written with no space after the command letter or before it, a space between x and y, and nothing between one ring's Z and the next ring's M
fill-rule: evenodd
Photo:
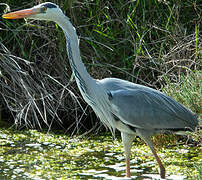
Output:
M191 128L196 116L165 94L147 89L111 91L113 113L123 123L142 129Z

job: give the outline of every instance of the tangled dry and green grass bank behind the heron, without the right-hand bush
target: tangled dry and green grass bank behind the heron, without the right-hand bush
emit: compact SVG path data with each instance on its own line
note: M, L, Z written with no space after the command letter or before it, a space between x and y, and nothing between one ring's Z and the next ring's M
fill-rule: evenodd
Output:
M160 89L201 68L201 17L194 0L53 2L77 27L82 59L94 78L113 76ZM19 8L32 5L20 2ZM16 9L18 3L10 6ZM61 29L24 20L0 25L0 99L6 118L21 127L59 124L72 132L97 127L71 78Z

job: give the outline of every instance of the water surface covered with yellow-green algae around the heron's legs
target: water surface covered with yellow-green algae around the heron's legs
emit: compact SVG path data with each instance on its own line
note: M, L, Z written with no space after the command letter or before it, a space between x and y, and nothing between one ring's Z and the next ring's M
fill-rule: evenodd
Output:
M0 178L4 179L113 179L124 177L121 139L111 135L73 136L36 130L0 129ZM201 149L185 144L164 146L159 152L167 175L196 179ZM150 149L135 141L131 171L134 179L158 174ZM1 179L2 179L1 178Z

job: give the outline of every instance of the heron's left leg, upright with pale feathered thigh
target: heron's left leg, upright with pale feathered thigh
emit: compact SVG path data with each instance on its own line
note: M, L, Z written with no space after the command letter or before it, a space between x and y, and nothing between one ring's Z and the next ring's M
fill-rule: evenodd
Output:
M131 146L133 143L134 135L121 132L122 142L125 150L126 156L126 177L131 177L130 175L130 153L131 153Z

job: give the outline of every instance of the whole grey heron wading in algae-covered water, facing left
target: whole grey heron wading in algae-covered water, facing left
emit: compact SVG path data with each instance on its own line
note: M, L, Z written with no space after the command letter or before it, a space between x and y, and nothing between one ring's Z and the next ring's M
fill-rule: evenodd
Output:
M30 9L4 14L2 17L48 20L57 23L64 32L70 66L82 97L112 133L116 129L121 132L126 176L131 177L131 146L133 139L138 135L150 147L159 165L160 176L165 178L165 168L150 136L167 131L193 131L198 125L196 115L158 90L118 78L93 79L81 60L76 30L56 4L46 2Z

